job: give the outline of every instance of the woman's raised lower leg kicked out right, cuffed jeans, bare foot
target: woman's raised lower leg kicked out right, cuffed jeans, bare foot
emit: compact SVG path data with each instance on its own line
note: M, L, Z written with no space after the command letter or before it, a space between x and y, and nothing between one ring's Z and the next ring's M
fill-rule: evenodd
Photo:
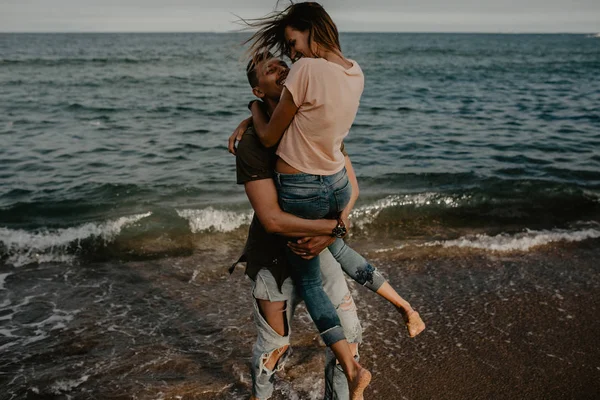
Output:
M369 264L363 256L350 248L342 239L337 239L329 246L329 251L331 251L331 254L342 265L342 269L349 277L377 293L396 307L406 323L410 337L417 336L425 329L425 323L419 313L413 310L409 302L403 299L381 273Z

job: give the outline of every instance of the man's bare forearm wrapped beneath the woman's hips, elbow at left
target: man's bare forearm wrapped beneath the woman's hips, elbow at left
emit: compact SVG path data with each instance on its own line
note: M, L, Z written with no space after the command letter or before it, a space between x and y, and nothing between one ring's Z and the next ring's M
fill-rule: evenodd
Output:
M277 189L272 179L260 179L244 184L246 195L258 220L270 233L284 236L331 236L336 220L304 219L284 212L277 202Z

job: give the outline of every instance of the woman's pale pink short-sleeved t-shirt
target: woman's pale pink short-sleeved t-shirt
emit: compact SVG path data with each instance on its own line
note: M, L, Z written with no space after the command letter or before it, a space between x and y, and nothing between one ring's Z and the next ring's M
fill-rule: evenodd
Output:
M354 122L364 75L356 61L352 67L324 58L302 58L287 76L285 87L298 112L285 131L277 155L299 171L332 175L344 168L340 147Z

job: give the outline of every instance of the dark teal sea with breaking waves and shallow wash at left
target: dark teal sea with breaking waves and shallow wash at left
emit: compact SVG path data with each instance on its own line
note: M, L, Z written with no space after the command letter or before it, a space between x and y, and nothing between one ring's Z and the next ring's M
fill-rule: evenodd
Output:
M250 308L232 304L249 283L226 272L252 218L227 151L253 98L247 36L0 34L0 399L248 391ZM365 75L345 140L357 248L598 243L600 38L341 44Z

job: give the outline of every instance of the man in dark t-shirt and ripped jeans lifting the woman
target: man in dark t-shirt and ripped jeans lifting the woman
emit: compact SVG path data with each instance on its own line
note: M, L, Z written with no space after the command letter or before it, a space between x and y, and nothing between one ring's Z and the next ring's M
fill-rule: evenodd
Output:
M269 115L277 106L288 70L283 61L270 55L248 64L246 72L252 92L262 100ZM239 140L237 149L236 139ZM272 180L275 148L263 147L251 126L246 129L246 124L240 125L230 138L229 149L237 156L237 182L244 184L255 211L244 255L239 261L246 261L246 274L254 282L252 295L258 331L252 354L250 399L265 400L273 392L273 374L283 367L289 354L290 322L300 300L286 265L284 246L290 246L294 252L306 258L317 256L334 240L332 231L337 227L337 221L306 220L280 209ZM356 176L347 155L346 168L355 182ZM357 196L358 193L353 194L352 204ZM305 238L299 243L286 243L285 236ZM319 257L325 292L336 306L346 338L357 355L362 329L342 270L328 250ZM327 348L325 399L348 397L346 377Z

